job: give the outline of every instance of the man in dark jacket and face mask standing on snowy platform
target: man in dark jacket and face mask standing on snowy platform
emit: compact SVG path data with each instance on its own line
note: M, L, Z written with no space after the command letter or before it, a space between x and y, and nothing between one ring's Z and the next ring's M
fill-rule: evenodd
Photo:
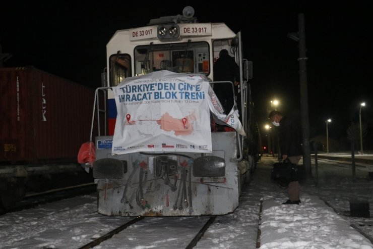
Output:
M291 163L298 165L303 155L301 137L297 122L274 110L270 113L269 119L274 126L279 127L279 144L282 160L288 159ZM289 183L289 200L283 204L298 204L299 199L299 182L292 181Z

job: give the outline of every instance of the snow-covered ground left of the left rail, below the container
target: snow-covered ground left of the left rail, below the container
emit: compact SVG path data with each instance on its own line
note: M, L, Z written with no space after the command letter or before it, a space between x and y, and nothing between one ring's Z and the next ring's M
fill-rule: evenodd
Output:
M0 216L0 248L78 248L129 220L99 215L96 195L74 197Z

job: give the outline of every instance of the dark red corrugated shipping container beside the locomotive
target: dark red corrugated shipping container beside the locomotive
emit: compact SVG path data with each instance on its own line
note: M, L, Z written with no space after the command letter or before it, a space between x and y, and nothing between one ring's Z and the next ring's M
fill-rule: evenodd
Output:
M33 67L0 68L2 164L77 162L94 89Z

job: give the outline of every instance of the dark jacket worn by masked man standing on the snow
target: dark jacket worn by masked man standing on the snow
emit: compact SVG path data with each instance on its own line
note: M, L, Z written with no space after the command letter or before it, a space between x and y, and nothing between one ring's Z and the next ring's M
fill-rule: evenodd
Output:
M303 155L300 129L295 121L282 117L278 136L281 155L287 155L288 157Z

